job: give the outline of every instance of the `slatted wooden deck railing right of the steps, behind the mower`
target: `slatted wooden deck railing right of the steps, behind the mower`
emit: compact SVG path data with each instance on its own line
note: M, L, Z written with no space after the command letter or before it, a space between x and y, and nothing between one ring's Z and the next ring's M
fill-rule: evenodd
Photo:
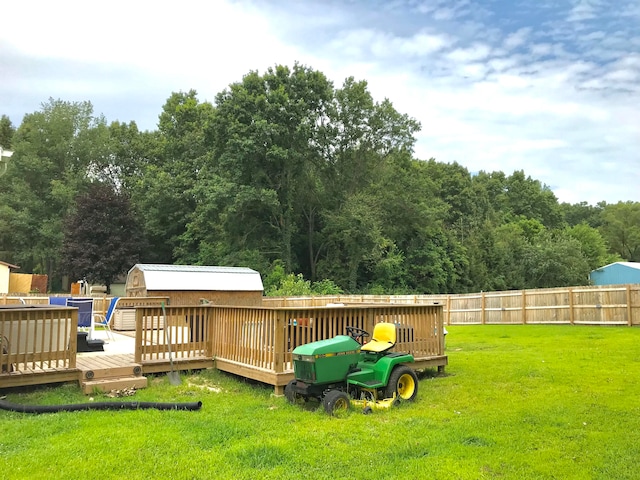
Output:
M136 308L136 362L166 362L169 350L178 361L214 358L216 368L274 385L278 391L293 378L291 352L298 345L346 334L347 326L373 332L376 323L391 322L398 326L395 349L412 353L415 368L447 364L439 305L203 305L166 307L165 313Z

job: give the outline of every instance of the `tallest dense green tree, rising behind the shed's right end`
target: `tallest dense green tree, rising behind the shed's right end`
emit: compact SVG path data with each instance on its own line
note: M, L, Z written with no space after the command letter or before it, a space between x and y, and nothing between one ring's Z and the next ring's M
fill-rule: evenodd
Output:
M216 98L213 155L202 172L189 239L217 262L281 259L294 252L305 202L321 160L322 123L332 85L294 65L247 74Z

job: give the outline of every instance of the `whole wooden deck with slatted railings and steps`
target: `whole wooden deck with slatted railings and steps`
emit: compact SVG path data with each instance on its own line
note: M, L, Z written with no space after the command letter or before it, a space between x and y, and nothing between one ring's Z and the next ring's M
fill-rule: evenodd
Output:
M0 316L0 334L9 339L0 365L13 369L0 371L0 389L65 381L79 382L89 394L142 388L147 385L145 375L171 370L171 356L177 371L216 367L273 385L276 393L282 393L293 378L296 346L344 334L349 325L373 331L379 322L398 326L402 333L395 350L412 353L413 368L442 371L447 365L441 305L205 305L167 306L166 311L144 306L136 308L136 331L124 336L125 349L113 350L114 345L108 344L105 352L87 353L76 353L77 310L61 316L70 319L66 323L52 322L51 314L45 312L23 324L27 313ZM25 342L28 338L36 341Z

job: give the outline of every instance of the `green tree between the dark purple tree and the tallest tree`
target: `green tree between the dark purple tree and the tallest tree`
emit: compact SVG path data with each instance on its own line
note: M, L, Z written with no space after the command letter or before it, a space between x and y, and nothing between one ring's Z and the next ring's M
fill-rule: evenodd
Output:
M196 209L213 111L210 103L198 100L195 90L173 93L160 114L158 136L145 135L142 144L134 146L138 163L133 172L140 175L132 179L131 191L149 243L146 261L197 262L198 244L189 242L185 233Z

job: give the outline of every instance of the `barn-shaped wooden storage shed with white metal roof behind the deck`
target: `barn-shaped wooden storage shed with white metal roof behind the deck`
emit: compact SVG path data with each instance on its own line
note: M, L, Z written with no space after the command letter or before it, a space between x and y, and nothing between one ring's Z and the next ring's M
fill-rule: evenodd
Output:
M171 305L262 305L262 278L245 267L136 264L127 275L128 297L168 297Z

